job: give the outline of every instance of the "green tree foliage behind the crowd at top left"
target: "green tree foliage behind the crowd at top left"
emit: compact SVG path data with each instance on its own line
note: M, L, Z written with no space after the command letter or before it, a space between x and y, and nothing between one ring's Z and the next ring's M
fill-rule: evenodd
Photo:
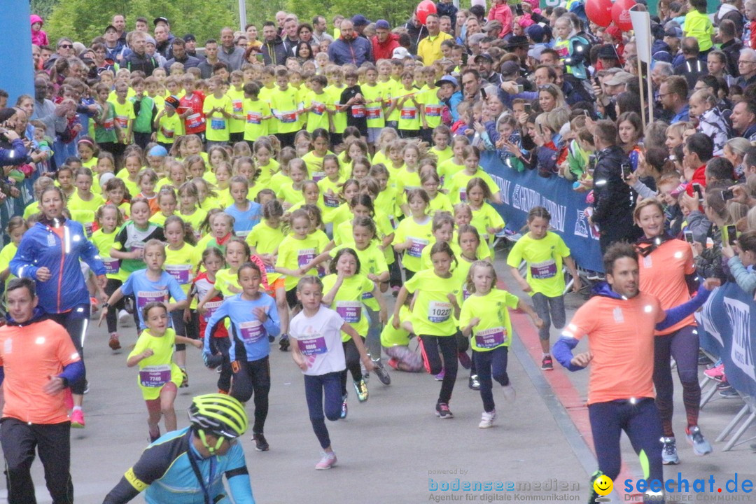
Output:
M237 29L239 23L237 0L66 0L55 5L45 29L51 40L67 36L88 45L103 34L113 14L125 14L128 29L137 17L167 17L174 35L194 33L200 44L217 39L224 26Z

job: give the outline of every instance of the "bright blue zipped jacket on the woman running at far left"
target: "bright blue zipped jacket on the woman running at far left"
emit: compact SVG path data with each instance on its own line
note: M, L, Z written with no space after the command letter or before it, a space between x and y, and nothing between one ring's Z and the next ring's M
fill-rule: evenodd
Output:
M66 219L60 228L62 238L42 222L34 224L24 233L10 264L11 272L17 277L36 280L39 306L48 314L89 305L89 291L79 259L87 263L95 275L105 274L98 249L87 240L82 224ZM50 280L37 280L40 267L48 268Z

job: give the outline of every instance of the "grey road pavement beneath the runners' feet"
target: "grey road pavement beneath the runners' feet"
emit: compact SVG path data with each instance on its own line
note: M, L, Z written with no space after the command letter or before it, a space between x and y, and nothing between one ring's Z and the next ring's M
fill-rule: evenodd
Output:
M498 255L497 271L508 285L516 285L503 262L504 255ZM522 292L516 293L527 298ZM582 295L568 296L568 320L582 300ZM113 352L107 346L104 327L93 324L85 343L91 386L84 403L87 427L72 430L71 440L77 503L102 502L147 446L147 411L135 370L125 366L136 340L133 323L121 334L124 348ZM552 342L556 335L553 329ZM358 404L352 391L348 419L327 422L339 462L325 472L314 470L320 447L308 419L302 375L290 354L274 346L271 403L265 426L271 450L256 452L249 435L242 441L257 502L587 502L589 475L596 468L593 447L583 437L586 426L580 421L581 416L585 417L588 371L569 373L557 364L557 369L549 373L553 376L546 376L540 370L540 351L534 351L537 338L532 336L523 334L510 349L508 372L517 391L516 402L505 404L494 384L494 428L478 428L482 402L478 392L467 388L469 372L464 369L460 368L450 404L454 419L448 420L434 415L439 382L425 374L391 370L392 385L381 385L373 376L370 399ZM581 342L578 350L584 345ZM202 366L199 351L188 348L187 354L190 387L179 389L175 405L180 428L187 425L185 410L191 397L215 391L218 377ZM675 429L683 463L667 467L665 478L677 479L679 471L691 484L693 479L709 475L724 484L736 472L741 483L743 478L756 479L754 454L748 444L723 453L723 443L714 443L742 402L717 399L705 408L700 425L714 444L714 453L696 457L684 441L685 415L679 382L676 384ZM561 402L565 397L567 408ZM252 408L250 403L250 415ZM578 427L573 418L578 418ZM752 430L749 432L754 435ZM628 478L640 477L640 463L624 437L622 450L627 468L624 474ZM39 459L33 466L33 478L38 502L51 502ZM485 482L491 483L489 490L484 486L482 490L443 490L445 485L454 489L457 483L462 488L467 483L476 489L475 484ZM431 490L434 484L438 490ZM500 490L496 490L496 484ZM620 481L615 482L615 488L621 486ZM5 484L0 487L5 488ZM715 489L711 497L719 496ZM0 502L5 502L4 497L5 490L0 490ZM699 501L704 497L709 496L691 496ZM756 502L756 497L751 499ZM140 496L134 502L144 500ZM612 502L637 500L613 494Z

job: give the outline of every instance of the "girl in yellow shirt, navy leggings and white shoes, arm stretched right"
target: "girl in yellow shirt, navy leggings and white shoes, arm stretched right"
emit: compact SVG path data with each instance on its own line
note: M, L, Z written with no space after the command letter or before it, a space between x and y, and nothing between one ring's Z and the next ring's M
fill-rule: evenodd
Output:
M472 263L466 280L471 295L463 302L460 311L460 329L466 338L470 338L483 400L479 428L491 427L496 418L491 378L501 385L504 399L510 403L515 400L515 389L507 376L507 353L512 342L512 323L507 308L525 311L538 328L544 325L533 309L516 295L497 289L496 281L493 264L488 261Z

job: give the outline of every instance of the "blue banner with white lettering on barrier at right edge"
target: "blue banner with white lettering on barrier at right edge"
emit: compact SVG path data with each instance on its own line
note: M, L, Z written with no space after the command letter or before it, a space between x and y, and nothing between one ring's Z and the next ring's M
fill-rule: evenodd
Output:
M722 358L730 385L743 396L756 397L756 317L751 314L756 314L754 299L728 282L711 293L696 319L702 347Z

